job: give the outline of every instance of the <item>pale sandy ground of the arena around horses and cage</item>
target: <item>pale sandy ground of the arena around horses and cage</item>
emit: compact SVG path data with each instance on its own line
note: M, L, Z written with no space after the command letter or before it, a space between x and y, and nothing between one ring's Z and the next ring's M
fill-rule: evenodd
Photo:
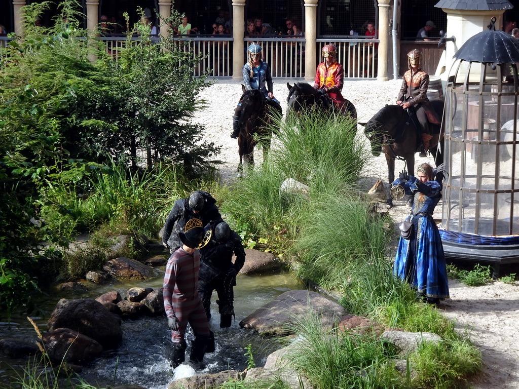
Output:
M276 80L274 95L281 102L283 113L286 111L286 82ZM367 121L385 104L394 104L401 86L401 80L348 81L343 94L350 100L359 115L359 121ZM240 82L218 81L217 84L200 92L207 107L197 115L197 121L206 126L203 134L205 141L214 142L222 147L219 159L221 177L224 182L236 178L238 165L237 141L230 138L231 116L241 96ZM359 136L363 137L359 127ZM433 162L432 157L416 158L416 164ZM404 168L397 161L395 171ZM373 158L367 166L362 183L366 191L376 179L387 183L387 165L383 156ZM436 207L441 218L441 206ZM394 220L402 220L408 213L403 201L395 202L389 211ZM460 331L466 330L472 342L481 350L484 367L476 377L474 386L483 388L519 388L519 283L514 285L493 282L485 286L469 287L456 280L450 281L450 298L439 307L444 314L457 323Z

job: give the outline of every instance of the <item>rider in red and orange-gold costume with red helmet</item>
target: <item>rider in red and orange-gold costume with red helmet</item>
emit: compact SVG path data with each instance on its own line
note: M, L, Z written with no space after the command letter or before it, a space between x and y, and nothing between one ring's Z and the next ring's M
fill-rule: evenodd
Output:
M317 66L316 80L313 88L324 90L332 99L335 106L346 113L346 100L340 91L344 85L343 65L336 61L337 47L334 44L325 45L322 50L324 62Z

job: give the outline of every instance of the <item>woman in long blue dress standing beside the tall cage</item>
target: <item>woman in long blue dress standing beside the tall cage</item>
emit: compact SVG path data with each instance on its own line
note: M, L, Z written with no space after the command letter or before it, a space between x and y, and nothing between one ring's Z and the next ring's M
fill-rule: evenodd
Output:
M442 240L432 218L434 207L442 197L442 187L433 180L428 163L422 163L416 171L416 177L400 173L393 183L414 196L407 218L413 223L413 231L409 239L400 238L393 274L411 284L418 299L437 304L449 297Z

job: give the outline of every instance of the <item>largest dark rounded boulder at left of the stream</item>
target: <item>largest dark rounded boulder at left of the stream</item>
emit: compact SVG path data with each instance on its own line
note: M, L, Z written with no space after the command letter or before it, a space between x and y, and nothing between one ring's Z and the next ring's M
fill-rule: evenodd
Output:
M49 331L70 328L99 342L103 348L114 348L122 339L115 315L92 299L61 299L47 323Z

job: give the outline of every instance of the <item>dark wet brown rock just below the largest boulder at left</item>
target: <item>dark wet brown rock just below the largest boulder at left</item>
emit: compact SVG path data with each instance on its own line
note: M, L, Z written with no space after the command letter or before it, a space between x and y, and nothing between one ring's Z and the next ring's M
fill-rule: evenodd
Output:
M43 335L43 343L49 358L54 363L77 364L89 362L103 351L103 346L70 328L57 328Z

